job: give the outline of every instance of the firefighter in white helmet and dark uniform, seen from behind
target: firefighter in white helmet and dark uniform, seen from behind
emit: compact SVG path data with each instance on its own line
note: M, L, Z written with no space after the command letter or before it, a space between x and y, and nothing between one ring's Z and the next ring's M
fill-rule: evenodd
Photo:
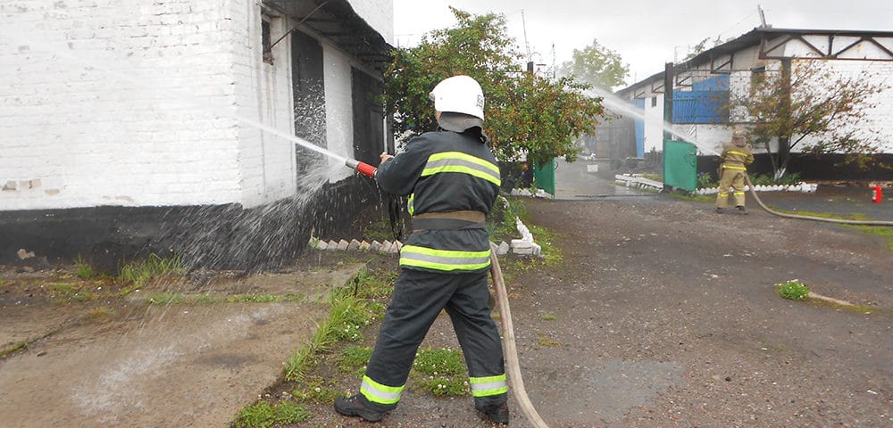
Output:
M484 95L468 76L431 92L439 128L381 155L375 181L409 196L413 234L400 250L400 274L360 393L335 401L341 415L379 421L396 407L416 350L441 310L453 322L468 366L474 406L508 424L502 343L490 317L490 241L484 225L499 192L497 160L482 132Z

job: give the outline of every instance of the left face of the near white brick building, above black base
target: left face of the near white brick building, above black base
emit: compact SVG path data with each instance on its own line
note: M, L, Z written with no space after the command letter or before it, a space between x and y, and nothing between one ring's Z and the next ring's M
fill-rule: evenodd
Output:
M238 200L219 4L0 4L0 210Z

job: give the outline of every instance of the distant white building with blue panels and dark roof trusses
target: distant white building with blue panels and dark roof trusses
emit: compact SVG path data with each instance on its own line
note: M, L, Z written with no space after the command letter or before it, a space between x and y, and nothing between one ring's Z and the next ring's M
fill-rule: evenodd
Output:
M698 154L715 154L730 140L730 124L747 124L741 111L723 109L731 94L747 94L752 76L765 70L778 70L782 62L797 67L802 62L822 62L822 67L841 76L868 71L879 82L893 83L893 32L861 30L813 30L757 28L713 49L697 54L687 62L672 65L672 119L668 126L680 135L690 136ZM667 111L664 109L666 73L657 73L621 91L623 100L638 105L644 119L636 118L636 142L640 151L661 152ZM822 86L827 82L814 82ZM874 108L866 111L863 123L853 127L871 128L882 136L882 151L893 155L893 90L876 95ZM802 151L807 140L794 148ZM825 161L833 163L830 159ZM826 168L829 163L813 161L806 169Z

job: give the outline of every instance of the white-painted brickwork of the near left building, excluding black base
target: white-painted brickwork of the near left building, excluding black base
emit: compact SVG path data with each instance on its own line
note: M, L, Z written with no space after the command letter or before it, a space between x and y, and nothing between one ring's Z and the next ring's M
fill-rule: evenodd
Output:
M351 4L392 38L391 0ZM263 63L261 16L253 0L0 3L0 210L295 194L289 37ZM272 39L293 25L273 19ZM352 60L323 46L329 147L349 156Z

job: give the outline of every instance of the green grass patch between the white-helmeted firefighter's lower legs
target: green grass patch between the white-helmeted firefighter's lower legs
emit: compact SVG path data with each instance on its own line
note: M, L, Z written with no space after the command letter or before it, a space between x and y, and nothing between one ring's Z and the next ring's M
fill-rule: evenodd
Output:
M465 396L469 394L466 373L461 351L422 349L413 362L413 374L418 378L413 386L435 396Z

